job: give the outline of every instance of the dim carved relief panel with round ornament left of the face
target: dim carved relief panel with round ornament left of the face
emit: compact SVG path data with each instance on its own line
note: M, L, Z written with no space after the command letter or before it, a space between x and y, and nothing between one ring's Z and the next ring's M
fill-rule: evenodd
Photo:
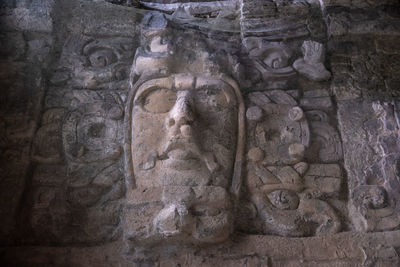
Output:
M118 235L125 194L123 109L133 53L131 38L66 40L33 141L38 165L29 221L35 238L93 243Z

